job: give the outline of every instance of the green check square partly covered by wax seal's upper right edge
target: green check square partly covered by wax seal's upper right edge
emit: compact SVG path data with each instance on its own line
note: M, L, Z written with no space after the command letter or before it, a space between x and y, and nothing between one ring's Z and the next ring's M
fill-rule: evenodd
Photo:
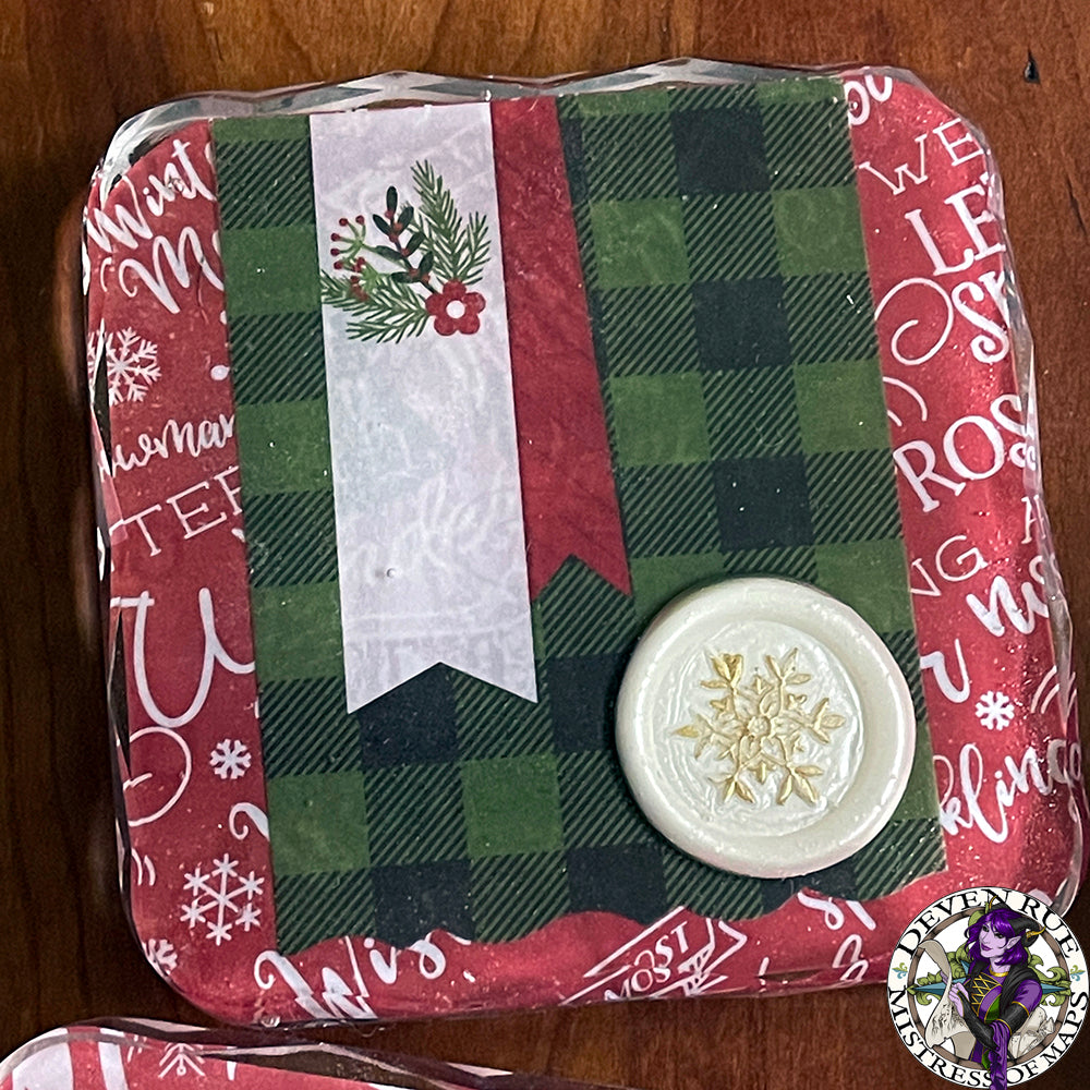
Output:
M877 632L913 626L905 543L899 538L814 546L819 585Z

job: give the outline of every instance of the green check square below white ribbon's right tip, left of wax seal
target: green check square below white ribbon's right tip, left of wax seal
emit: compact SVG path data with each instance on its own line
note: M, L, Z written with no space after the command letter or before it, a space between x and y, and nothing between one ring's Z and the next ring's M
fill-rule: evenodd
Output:
M462 803L471 858L562 847L560 795L552 754L467 761L462 765Z

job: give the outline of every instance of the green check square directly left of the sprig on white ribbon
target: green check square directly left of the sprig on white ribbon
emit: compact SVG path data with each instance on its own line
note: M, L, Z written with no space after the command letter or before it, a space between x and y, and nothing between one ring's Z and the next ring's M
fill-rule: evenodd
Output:
M313 311L318 293L318 243L314 226L245 228L222 233L227 313L281 314Z

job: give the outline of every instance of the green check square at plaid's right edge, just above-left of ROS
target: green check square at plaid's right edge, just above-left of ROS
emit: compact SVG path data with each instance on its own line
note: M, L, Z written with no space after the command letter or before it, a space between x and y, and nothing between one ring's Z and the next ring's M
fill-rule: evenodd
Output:
M796 367L795 397L807 453L889 446L877 360Z

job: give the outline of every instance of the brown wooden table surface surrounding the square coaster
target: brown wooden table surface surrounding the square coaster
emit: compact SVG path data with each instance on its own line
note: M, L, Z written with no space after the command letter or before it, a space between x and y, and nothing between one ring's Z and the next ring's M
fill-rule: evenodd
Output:
M1025 75L1030 52L1039 82ZM0 1055L94 1016L208 1021L145 964L122 913L100 659L81 619L88 456L65 378L73 331L55 314L73 267L56 238L116 126L199 89L398 68L547 75L675 56L895 64L986 133L1036 335L1046 499L1087 676L1086 0L0 0ZM1086 693L1081 706L1087 722ZM1068 919L1090 949L1090 895ZM895 1037L881 986L339 1039L663 1090L941 1085ZM1036 1085L1088 1074L1090 1031Z

